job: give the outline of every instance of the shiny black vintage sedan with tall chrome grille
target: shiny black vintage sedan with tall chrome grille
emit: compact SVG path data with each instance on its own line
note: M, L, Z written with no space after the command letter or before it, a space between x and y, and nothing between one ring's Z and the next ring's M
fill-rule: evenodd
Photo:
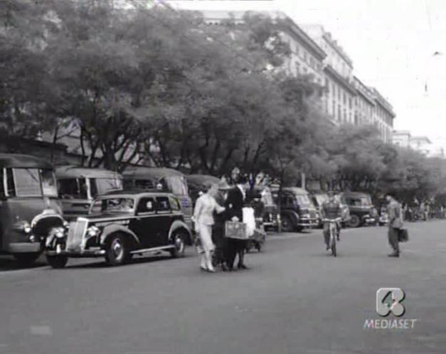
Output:
M46 257L53 268L65 267L68 257L105 257L117 265L148 252L179 257L186 245L192 245L191 230L174 195L120 191L95 199L85 218L55 230L47 239Z

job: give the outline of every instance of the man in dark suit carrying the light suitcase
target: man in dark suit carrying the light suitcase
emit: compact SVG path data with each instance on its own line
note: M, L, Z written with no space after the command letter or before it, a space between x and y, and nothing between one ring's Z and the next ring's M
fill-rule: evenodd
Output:
M240 177L237 186L228 191L228 198L225 200L226 220L243 222L243 203L247 189L246 183L245 178ZM243 262L245 258L245 243L245 240L228 239L225 259L229 270L233 269L237 254L239 254L238 269L247 268Z

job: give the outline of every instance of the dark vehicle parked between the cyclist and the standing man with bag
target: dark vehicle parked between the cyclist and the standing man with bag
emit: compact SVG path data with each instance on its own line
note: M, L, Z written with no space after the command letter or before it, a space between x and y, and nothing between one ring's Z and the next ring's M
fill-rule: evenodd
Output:
M341 200L349 206L350 227L376 225L378 222L378 212L368 193L344 192L341 193Z

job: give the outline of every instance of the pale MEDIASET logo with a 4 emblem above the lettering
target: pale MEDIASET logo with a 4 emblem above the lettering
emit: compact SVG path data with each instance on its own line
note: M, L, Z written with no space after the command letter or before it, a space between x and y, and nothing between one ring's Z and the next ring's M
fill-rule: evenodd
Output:
M381 317L392 314L401 317L405 313L405 292L400 288L381 288L376 291L376 313ZM376 318L366 319L364 328L368 329L412 329L416 319Z

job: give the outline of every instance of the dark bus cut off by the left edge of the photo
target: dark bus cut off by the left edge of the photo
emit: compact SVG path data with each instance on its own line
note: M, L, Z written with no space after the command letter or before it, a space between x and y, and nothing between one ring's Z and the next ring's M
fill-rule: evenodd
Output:
M33 156L0 154L0 252L31 264L63 226L53 167Z

